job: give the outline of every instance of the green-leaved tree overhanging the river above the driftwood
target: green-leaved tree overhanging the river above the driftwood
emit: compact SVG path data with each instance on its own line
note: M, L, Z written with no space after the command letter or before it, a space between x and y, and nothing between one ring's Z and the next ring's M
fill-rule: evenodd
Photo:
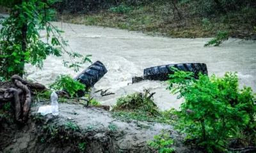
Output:
M0 0L2 6L10 9L10 17L1 22L1 77L10 78L15 74L22 76L25 63L42 68L48 55L59 57L64 53L68 54L71 61L63 61L63 64L75 68L75 71L78 71L79 64L90 61L88 56L83 57L65 50L67 42L61 37L63 31L51 24L56 11L49 5L55 2L56 0ZM47 31L46 43L40 40L38 31L42 30ZM76 62L76 57L83 57L83 60Z

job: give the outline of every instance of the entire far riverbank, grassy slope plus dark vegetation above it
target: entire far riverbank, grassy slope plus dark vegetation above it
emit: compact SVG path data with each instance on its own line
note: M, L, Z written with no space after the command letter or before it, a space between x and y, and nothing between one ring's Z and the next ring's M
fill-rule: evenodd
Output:
M64 0L54 4L73 24L118 27L175 38L212 37L228 31L255 40L254 0Z

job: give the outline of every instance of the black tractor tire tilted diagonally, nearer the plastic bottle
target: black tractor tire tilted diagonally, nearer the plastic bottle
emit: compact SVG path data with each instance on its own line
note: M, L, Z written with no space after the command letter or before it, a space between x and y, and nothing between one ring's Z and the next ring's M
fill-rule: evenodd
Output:
M86 89L90 89L90 87L93 87L93 85L95 85L107 72L108 70L104 64L102 64L100 61L97 61L88 68L84 69L84 71L77 75L74 80L86 85ZM78 91L77 95L79 97L84 96L84 92Z

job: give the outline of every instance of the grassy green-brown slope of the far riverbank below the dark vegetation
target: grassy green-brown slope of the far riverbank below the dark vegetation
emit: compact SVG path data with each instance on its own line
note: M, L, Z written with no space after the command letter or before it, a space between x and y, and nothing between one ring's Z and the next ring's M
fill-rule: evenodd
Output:
M131 6L125 6L131 8ZM114 27L128 31L140 31L152 36L170 38L212 38L218 31L228 31L232 38L256 40L250 13L237 12L214 17L191 15L186 7L179 6L180 16L169 5L132 7L131 11L101 10L86 14L59 14L58 20L71 24ZM116 6L115 8L118 8Z

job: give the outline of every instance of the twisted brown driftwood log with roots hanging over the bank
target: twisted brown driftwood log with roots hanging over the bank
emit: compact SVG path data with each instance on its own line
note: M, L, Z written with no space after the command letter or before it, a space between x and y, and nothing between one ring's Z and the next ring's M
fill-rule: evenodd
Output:
M28 120L31 90L45 90L45 86L24 80L19 75L13 75L11 80L0 84L0 103L13 101L15 119L24 123Z

